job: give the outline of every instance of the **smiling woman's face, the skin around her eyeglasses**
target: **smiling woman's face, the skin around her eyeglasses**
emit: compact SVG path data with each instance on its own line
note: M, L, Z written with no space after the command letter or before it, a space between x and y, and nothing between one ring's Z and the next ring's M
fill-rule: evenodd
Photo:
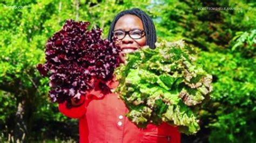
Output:
M144 30L142 20L134 15L124 15L117 20L116 25L114 26L114 31L130 31L130 30ZM131 53L136 49L146 45L146 36L140 39L132 39L129 34L126 34L125 37L117 42L122 49L122 53Z

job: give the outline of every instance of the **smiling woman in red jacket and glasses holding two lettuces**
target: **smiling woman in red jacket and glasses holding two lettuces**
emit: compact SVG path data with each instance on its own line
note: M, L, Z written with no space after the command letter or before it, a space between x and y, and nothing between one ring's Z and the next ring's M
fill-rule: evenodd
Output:
M155 48L156 31L152 19L140 9L120 12L114 18L109 40L118 38L122 54L134 52L142 46ZM112 89L118 85L111 81ZM79 103L72 102L73 107L67 109L65 104L59 104L59 111L70 118L79 118L80 142L180 142L177 127L167 125L147 125L140 129L125 117L128 112L118 94L103 95L99 91L87 92L86 99ZM90 104L89 104L90 103Z

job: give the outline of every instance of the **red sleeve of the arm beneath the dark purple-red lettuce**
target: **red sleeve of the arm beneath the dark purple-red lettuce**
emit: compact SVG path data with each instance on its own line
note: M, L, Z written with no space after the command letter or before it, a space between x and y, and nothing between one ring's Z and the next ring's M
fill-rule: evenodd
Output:
M72 107L70 109L66 108L66 101L64 103L59 103L59 112L63 113L63 115L70 118L81 118L86 112L87 104L84 96L80 96L80 102L83 102L82 105L77 107Z

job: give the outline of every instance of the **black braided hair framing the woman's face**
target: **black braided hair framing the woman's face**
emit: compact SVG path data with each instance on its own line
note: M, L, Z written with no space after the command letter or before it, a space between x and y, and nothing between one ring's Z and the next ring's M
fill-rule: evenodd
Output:
M144 11L142 11L138 8L134 8L131 10L125 10L125 11L118 13L118 15L114 18L114 20L112 21L112 23L110 25L109 35L108 35L107 39L109 39L109 41L113 41L112 37L113 37L114 25L116 25L117 20L120 17L122 17L124 15L129 15L129 14L135 15L142 20L144 31L146 34L146 45L149 45L149 47L152 49L156 48L156 46L154 44L157 41L157 34L156 34L156 28L154 27L153 20Z

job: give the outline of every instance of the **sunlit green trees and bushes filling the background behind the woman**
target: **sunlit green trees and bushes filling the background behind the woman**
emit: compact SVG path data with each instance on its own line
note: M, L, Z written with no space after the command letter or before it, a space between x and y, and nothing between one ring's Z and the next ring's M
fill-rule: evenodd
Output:
M4 7L12 5L27 6L28 9ZM50 131L60 125L64 128L56 131L57 138L68 140L70 136L66 133L77 130L71 127L77 127L77 121L61 115L57 105L49 102L48 80L39 77L35 69L37 63L44 62L46 40L60 30L66 19L98 25L104 29L103 38L106 38L114 16L134 7L153 17L159 40L184 39L201 49L198 63L213 75L214 98L200 111L200 126L204 133L194 140L209 137L206 142L255 142L256 9L254 1L235 0L1 1L1 139L12 134L19 98L28 97L31 108L35 109L32 113L33 134L28 138L53 140L54 132ZM237 7L242 10L199 10L201 7ZM36 123L47 125L36 126ZM77 134L72 138L76 140Z

